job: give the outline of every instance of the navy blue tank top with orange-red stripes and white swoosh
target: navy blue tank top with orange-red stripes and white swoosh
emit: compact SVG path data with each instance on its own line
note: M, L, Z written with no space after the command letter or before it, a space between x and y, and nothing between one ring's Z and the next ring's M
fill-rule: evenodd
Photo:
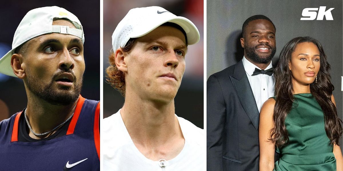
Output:
M0 170L100 170L100 103L81 95L66 135L39 142L18 141L22 112L0 122Z

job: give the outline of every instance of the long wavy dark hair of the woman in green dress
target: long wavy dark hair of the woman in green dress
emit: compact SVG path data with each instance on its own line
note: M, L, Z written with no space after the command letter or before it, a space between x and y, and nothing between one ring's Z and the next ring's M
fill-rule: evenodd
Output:
M271 130L271 141L278 147L285 145L289 141L285 119L294 101L292 72L289 70L289 62L297 44L303 42L312 42L319 50L320 68L317 74L318 81L317 83L313 82L310 84L310 91L320 104L324 113L325 131L331 144L339 145L339 138L342 135L342 120L337 116L337 109L331 101L334 87L330 81L330 65L322 45L318 40L311 37L296 37L292 39L280 53L280 60L274 71L276 102L274 106L274 128Z

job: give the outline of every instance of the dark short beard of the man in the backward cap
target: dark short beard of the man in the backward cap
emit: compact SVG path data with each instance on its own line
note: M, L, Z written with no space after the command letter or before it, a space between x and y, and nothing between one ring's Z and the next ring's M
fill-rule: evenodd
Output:
M27 88L37 97L45 100L46 102L52 104L52 105L69 105L74 103L82 89L82 81L83 77L81 78L81 81L79 83L76 80L76 77L74 76L74 73L72 71L68 71L74 76L75 81L75 90L74 91L68 91L71 88L69 87L60 87L58 89L53 88L54 78L64 73L65 71L60 71L56 73L51 78L51 82L48 85L44 85L42 81L40 81L37 77L32 76L29 73L29 70L27 70Z

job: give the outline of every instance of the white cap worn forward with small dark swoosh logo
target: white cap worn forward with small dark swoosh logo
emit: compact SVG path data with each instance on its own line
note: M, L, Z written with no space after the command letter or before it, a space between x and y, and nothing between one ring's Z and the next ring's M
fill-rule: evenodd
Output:
M159 6L149 6L131 9L119 22L112 35L113 50L125 47L130 38L142 37L166 22L182 27L188 44L195 44L200 40L198 28L189 19L176 16Z

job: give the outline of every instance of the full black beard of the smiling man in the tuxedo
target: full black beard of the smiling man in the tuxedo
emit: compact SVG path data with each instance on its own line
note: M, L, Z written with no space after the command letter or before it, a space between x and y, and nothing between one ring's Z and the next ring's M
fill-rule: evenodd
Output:
M265 45L265 46L268 46L270 48L270 50L272 51L270 53L269 56L259 56L257 53L256 53L256 49L258 46L260 45ZM256 47L251 47L249 45L246 45L245 48L244 48L244 51L245 53L247 54L247 58L249 58L250 60L252 60L253 62L256 62L256 63L259 63L259 64L267 64L269 63L272 58L274 57L275 55L275 52L276 52L276 47L271 47L269 44L265 44L265 43L260 43L259 45L257 45Z

